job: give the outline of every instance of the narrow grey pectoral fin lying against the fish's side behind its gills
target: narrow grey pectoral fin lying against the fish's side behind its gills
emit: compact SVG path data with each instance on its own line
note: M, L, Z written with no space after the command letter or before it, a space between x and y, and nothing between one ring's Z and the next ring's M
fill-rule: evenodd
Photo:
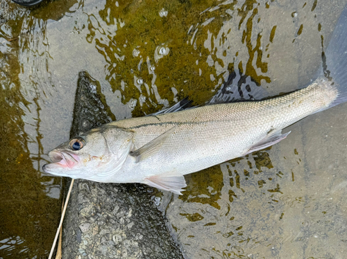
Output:
M174 130L176 130L176 126L156 137L155 139L153 139L153 141L146 143L146 145L142 146L138 150L130 152L130 156L136 158L136 163L143 159L146 159L146 157L149 157L160 148L162 142L167 139L167 137L170 136L170 134L174 132Z

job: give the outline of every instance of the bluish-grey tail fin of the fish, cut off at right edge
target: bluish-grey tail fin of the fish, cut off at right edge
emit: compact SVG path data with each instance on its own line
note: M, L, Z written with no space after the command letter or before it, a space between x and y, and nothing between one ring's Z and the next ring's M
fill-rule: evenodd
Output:
M325 77L332 80L333 86L339 91L339 96L329 105L330 108L347 102L347 6L341 12L322 58Z

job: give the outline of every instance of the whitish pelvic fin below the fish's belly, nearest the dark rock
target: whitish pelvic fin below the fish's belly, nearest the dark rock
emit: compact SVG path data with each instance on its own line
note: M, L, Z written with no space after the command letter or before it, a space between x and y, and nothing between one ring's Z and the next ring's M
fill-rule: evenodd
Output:
M147 184L160 190L169 190L178 195L182 195L182 193L180 193L183 191L182 188L187 186L185 183L185 177L179 174L153 175L152 177L145 178L143 184Z

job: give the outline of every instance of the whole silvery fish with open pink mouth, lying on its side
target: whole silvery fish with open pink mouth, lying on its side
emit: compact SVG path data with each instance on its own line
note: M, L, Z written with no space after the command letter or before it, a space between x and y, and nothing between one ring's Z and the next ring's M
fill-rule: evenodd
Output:
M289 125L347 101L347 10L341 12L323 71L312 84L266 100L189 107L96 127L49 152L51 175L103 183L140 183L178 195L184 175L243 157L285 139ZM256 95L255 95L256 97Z

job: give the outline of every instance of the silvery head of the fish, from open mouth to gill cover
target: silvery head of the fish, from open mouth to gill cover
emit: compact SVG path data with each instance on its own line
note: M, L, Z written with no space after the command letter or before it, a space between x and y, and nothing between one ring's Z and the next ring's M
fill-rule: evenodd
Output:
M49 152L53 163L44 172L60 177L109 182L133 148L133 132L117 127L99 127Z

